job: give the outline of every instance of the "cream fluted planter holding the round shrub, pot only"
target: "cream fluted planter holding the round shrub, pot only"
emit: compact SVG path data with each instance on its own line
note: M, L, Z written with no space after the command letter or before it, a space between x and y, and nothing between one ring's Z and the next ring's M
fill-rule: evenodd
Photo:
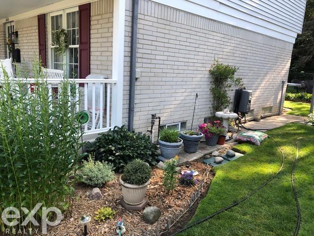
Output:
M148 180L142 185L129 184L122 180L120 176L120 183L122 188L123 201L128 205L139 205L144 201L147 185L151 182Z

